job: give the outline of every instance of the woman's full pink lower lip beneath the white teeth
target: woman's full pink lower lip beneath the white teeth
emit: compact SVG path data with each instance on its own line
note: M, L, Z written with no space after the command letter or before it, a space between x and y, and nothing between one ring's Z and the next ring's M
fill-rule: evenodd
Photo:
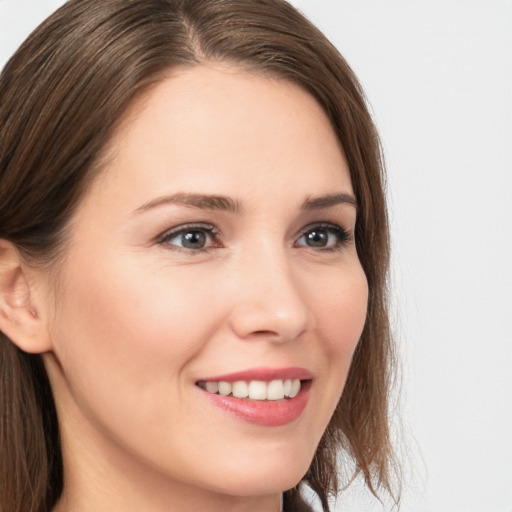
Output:
M262 427L280 427L299 418L309 399L311 381L302 382L299 394L283 400L247 400L198 388L210 402L243 421Z

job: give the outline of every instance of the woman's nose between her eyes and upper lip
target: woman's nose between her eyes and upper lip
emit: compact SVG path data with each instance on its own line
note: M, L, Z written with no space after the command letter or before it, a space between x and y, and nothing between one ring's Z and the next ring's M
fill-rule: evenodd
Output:
M233 285L230 324L239 338L285 343L307 330L305 290L284 251L259 251L239 261Z

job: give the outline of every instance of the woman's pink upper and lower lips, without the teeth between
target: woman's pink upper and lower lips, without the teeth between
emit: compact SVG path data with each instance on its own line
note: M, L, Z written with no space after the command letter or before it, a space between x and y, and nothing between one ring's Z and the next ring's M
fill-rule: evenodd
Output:
M239 380L262 380L270 382L275 379L300 379L301 389L294 398L283 400L248 400L234 396L221 396L209 393L199 387L198 391L213 405L234 417L264 427L287 425L298 419L309 400L309 390L313 378L311 372L304 368L253 368L246 371L230 373L201 379L213 382L236 382Z

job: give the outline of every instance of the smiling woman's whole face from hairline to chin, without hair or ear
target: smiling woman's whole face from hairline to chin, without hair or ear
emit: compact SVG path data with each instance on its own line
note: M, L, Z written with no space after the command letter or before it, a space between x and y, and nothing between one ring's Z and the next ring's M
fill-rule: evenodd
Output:
M367 306L326 115L289 82L198 66L139 98L108 153L50 315L67 477L89 465L102 485L292 487Z

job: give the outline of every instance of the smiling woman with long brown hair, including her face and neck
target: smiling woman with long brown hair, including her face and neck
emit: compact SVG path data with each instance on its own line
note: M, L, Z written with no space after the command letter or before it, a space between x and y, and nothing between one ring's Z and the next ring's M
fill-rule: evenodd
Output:
M390 490L379 145L317 29L71 0L0 123L4 512L327 511L340 453Z

